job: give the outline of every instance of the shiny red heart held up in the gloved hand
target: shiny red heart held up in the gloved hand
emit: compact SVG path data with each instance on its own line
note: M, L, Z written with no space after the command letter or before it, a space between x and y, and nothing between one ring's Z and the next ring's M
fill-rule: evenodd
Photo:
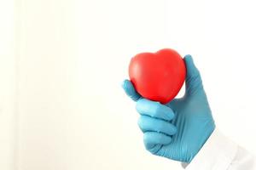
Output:
M134 56L129 65L129 77L144 98L166 104L182 88L186 67L175 50L166 48Z

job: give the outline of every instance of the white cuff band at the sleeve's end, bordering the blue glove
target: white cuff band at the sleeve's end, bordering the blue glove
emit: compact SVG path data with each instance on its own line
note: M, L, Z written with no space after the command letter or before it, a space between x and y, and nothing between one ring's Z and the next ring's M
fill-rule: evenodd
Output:
M186 170L226 170L236 156L238 145L215 129Z

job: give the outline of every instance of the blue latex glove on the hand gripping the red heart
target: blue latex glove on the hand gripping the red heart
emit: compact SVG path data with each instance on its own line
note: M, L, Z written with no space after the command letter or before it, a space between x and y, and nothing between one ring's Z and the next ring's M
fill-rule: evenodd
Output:
M187 68L183 98L166 105L143 99L132 83L123 82L125 93L137 101L138 125L144 134L145 148L152 154L190 162L212 134L215 124L200 72L190 55L184 57Z

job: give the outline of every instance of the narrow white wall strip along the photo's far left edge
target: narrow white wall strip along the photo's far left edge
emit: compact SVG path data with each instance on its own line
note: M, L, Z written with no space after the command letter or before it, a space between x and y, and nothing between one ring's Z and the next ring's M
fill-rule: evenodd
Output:
M15 168L14 2L0 1L0 169Z

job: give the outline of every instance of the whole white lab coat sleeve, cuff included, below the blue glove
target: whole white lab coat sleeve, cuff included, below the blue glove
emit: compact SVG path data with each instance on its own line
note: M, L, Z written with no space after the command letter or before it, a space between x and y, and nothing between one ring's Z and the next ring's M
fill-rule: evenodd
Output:
M215 129L185 170L253 170L255 157Z

